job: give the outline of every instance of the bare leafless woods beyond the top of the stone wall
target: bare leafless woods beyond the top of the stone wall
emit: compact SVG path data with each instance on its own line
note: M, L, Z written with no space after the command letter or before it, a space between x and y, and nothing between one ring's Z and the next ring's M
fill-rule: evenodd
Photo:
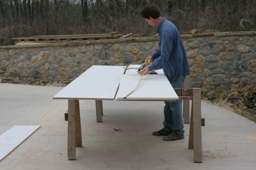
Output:
M149 3L181 32L255 30L256 0L0 0L0 45L33 35L154 32L140 17Z

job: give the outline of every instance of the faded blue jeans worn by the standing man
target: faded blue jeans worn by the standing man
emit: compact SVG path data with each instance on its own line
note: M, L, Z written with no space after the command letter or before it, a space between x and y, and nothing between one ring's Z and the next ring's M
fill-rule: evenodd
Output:
M173 88L182 88L184 85L184 75L180 75L175 81L170 82ZM184 134L184 124L182 115L182 101L164 101L164 130Z

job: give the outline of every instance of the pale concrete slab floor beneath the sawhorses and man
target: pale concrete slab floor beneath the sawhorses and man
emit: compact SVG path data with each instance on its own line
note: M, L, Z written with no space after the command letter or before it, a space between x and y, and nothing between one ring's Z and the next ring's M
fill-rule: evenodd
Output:
M255 169L256 124L202 102L203 163L193 163L185 139L152 136L162 128L161 102L103 101L102 123L95 102L81 101L83 148L67 159L67 101L52 100L60 87L0 83L0 134L12 125L41 128L0 162L0 169ZM115 129L120 129L115 131Z

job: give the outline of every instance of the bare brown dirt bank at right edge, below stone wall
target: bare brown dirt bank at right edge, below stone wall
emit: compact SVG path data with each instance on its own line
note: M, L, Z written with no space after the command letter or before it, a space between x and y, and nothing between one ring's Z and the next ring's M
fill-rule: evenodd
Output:
M202 96L207 103L216 104L256 122L256 81L252 85L239 85L229 91L205 91Z

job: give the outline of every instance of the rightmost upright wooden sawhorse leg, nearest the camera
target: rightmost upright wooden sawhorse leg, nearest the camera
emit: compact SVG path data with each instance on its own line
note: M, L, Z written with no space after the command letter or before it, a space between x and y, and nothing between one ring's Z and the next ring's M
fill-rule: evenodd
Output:
M194 162L202 163L201 89L193 89Z

